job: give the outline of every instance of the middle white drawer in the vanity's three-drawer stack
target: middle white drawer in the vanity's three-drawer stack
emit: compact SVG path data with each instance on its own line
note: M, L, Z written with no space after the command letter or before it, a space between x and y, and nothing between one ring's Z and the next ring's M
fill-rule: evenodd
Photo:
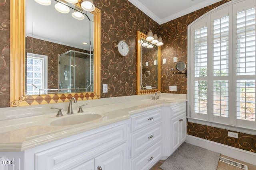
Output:
M131 156L134 157L142 150L162 139L162 121L138 131L131 136Z

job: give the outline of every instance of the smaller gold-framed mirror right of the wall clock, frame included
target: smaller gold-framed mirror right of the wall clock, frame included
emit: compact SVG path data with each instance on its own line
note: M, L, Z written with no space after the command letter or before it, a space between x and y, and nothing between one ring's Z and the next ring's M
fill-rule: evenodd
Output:
M160 91L161 48L146 41L146 37L137 31L137 95Z

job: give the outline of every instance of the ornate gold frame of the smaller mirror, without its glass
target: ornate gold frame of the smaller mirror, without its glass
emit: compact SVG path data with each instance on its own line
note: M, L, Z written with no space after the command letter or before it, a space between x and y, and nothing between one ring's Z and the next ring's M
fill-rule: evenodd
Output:
M158 65L158 71L157 71L157 89L151 89L151 90L141 90L140 89L140 78L141 78L141 70L140 70L140 65L141 65L141 56L140 56L140 39L146 39L147 35L140 32L137 30L137 95L143 95L143 94L153 94L157 91L160 91L160 85L161 85L161 78L160 78L160 66L161 66L161 47L158 46L158 54L157 54L157 65Z

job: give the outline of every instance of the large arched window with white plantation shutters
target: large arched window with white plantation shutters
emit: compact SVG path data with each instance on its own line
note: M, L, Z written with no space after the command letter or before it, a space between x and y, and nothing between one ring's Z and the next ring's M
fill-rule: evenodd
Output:
M256 129L255 0L227 4L188 27L188 116Z

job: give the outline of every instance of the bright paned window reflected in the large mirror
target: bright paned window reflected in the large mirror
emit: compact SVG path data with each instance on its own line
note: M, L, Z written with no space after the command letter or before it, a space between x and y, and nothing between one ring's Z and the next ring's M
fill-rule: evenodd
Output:
M26 95L42 94L47 89L47 56L27 53Z

